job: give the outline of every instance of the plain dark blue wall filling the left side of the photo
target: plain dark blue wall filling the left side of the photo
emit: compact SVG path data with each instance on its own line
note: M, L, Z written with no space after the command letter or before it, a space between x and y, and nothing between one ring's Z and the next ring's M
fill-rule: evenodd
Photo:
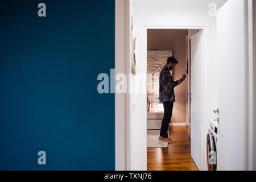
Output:
M5 0L0 19L0 169L114 170L114 0Z

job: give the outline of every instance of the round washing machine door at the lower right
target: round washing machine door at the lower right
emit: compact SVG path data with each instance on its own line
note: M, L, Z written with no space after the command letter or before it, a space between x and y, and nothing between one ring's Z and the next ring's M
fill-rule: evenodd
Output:
M216 142L212 133L207 134L207 164L209 171L217 169Z

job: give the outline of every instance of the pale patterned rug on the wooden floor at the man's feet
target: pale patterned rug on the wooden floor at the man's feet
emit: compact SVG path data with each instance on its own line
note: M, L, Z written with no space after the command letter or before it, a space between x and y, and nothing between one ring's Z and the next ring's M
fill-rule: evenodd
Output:
M158 140L160 135L160 130L147 130L147 147L168 147L167 142Z

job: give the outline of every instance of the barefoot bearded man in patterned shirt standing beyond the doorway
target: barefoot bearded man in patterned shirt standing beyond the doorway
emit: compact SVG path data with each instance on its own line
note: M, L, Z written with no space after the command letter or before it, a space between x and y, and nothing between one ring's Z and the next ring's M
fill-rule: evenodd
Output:
M180 80L174 81L170 70L175 68L179 63L174 57L168 57L167 64L163 67L159 77L159 101L163 102L164 117L162 121L159 140L168 143L176 143L174 140L168 138L168 127L172 118L172 108L174 106L175 95L174 88L185 80L185 74Z

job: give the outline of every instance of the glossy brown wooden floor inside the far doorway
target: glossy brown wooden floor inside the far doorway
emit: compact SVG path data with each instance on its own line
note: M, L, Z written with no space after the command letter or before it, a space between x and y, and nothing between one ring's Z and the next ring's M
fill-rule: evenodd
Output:
M170 126L169 137L177 143L168 148L147 148L148 171L197 171L190 155L187 126Z

